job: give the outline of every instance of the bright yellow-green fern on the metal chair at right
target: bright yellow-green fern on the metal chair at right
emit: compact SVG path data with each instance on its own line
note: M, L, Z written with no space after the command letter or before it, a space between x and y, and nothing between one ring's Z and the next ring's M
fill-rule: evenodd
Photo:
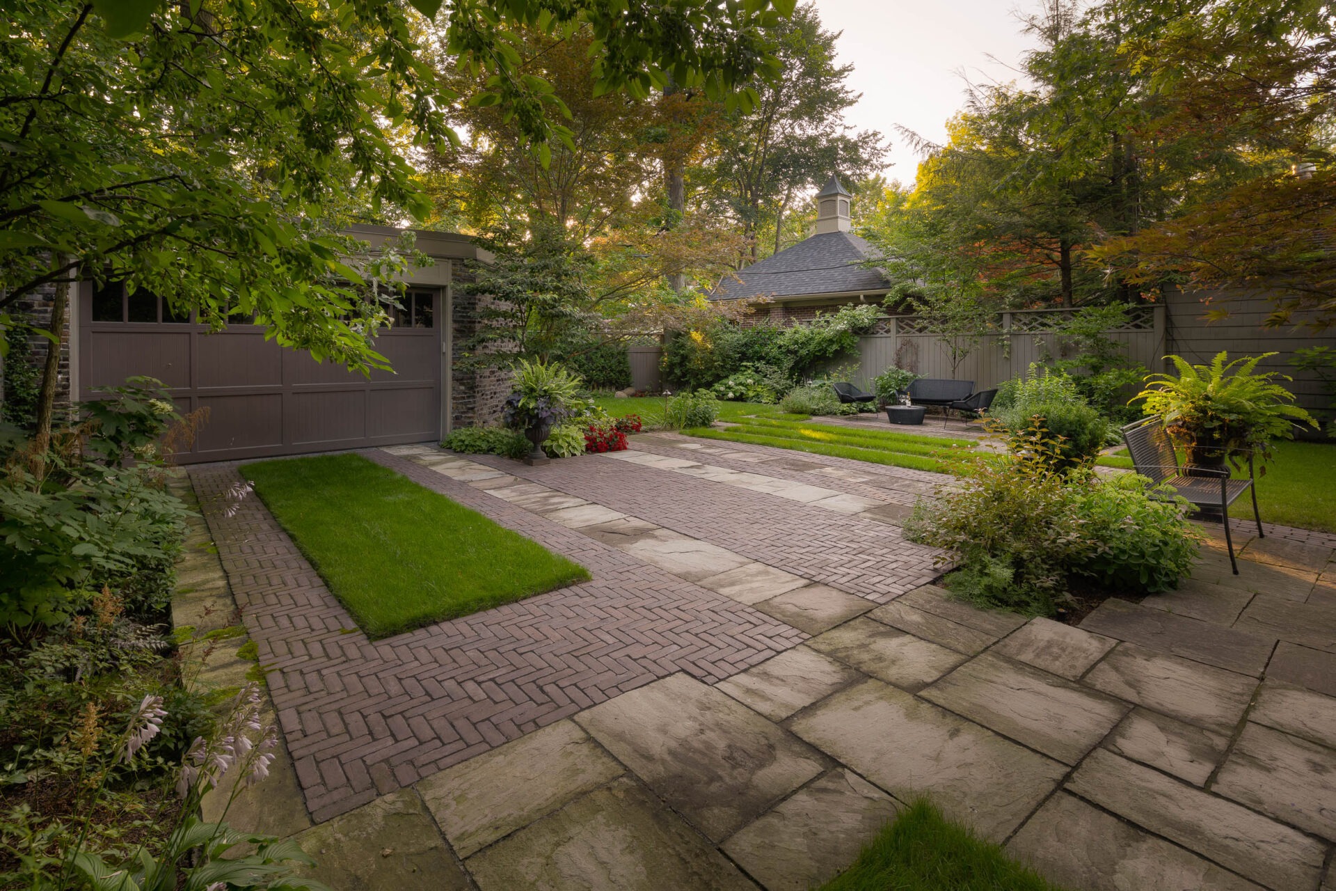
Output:
M1300 425L1317 426L1312 417L1297 405L1295 395L1276 383L1291 378L1253 369L1267 357L1244 357L1228 362L1221 350L1210 365L1192 365L1186 359L1166 357L1178 374L1152 374L1146 389L1136 399L1144 399L1146 414L1160 415L1173 438L1188 450L1188 464L1204 468L1222 468L1232 458L1237 466L1240 456L1271 457L1272 439L1291 439Z

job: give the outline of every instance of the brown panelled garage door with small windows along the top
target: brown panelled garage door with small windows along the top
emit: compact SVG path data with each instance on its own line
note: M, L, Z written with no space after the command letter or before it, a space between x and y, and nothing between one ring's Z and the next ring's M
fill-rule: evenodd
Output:
M208 409L182 464L301 454L441 435L438 290L411 290L405 313L377 338L394 371L370 378L265 339L257 325L211 333L171 318L163 301L119 285L80 299L80 397L127 377L159 378L183 411Z

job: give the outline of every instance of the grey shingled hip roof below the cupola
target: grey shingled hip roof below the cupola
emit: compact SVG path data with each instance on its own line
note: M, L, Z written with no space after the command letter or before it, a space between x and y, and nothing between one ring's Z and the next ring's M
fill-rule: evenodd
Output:
M890 287L880 270L862 266L880 251L852 232L811 235L792 247L767 256L727 277L709 298L740 301L748 297L822 297L884 291ZM737 279L741 279L740 282Z

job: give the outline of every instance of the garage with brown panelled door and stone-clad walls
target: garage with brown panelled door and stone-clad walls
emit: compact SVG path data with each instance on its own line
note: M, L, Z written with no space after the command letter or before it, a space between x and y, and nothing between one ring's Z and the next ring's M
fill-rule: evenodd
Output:
M383 226L349 234L373 247L397 236ZM492 255L465 235L417 232L417 250L434 264L406 277L395 325L375 349L394 371L353 374L310 354L265 339L258 325L211 333L191 318L174 318L156 295L130 295L119 283L72 289L60 402L96 398L95 387L127 377L163 381L182 411L207 407L208 421L182 464L438 441L453 426L496 418L509 391L505 371L458 367L462 345L476 330L477 298L456 294L469 267ZM51 318L51 294L20 307L33 323ZM442 323L448 321L448 323ZM45 357L35 341L33 358Z

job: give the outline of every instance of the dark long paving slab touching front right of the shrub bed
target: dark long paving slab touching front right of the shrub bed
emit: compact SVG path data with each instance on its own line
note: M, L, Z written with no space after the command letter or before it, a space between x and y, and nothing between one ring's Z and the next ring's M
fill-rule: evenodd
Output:
M1261 676L1276 641L1112 597L1081 628L1240 675Z

